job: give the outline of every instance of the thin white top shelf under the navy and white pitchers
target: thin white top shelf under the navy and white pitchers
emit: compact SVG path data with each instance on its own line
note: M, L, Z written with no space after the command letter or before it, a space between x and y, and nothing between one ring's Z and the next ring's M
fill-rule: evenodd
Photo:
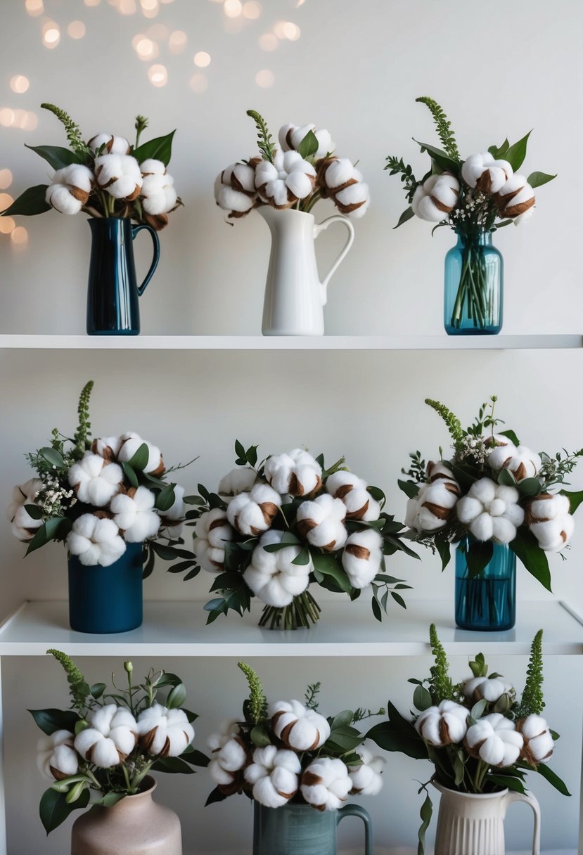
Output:
M138 351L499 351L583 346L565 335L0 335L0 349Z

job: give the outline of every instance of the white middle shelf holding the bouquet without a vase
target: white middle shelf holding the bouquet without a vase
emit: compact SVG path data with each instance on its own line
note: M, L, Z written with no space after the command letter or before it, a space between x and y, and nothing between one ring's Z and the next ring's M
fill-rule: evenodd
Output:
M344 600L321 604L320 621L310 629L259 628L260 611L240 618L220 617L205 626L203 604L145 602L144 624L128 633L90 635L68 626L66 601L30 601L0 628L0 656L42 656L56 647L71 656L174 657L386 657L429 652L429 624L451 654L527 655L534 634L544 628L546 655L583 654L583 621L558 600L521 602L514 629L473 633L456 628L450 600L409 600L380 623L370 603Z

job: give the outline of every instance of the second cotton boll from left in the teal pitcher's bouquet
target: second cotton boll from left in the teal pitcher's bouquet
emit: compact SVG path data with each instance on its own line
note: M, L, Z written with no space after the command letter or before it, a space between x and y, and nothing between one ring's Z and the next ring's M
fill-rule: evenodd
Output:
M253 785L253 798L260 805L283 807L297 793L301 770L297 754L265 746L255 749L253 763L244 770L244 777Z

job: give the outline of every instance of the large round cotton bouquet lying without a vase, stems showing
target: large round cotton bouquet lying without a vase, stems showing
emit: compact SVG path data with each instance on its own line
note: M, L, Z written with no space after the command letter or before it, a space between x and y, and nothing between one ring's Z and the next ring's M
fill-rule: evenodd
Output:
M378 487L349 472L344 457L326 469L322 455L299 448L262 463L256 445L245 451L237 441L235 451L237 468L218 492L199 484L200 496L189 498L198 505L187 514L196 560L183 567L216 577L211 591L220 596L204 606L208 622L229 609L243 614L256 596L265 604L261 626L309 627L320 613L310 582L350 599L370 586L378 620L388 593L404 607L398 591L409 586L385 574L385 557L417 556L403 543L403 524L382 511Z

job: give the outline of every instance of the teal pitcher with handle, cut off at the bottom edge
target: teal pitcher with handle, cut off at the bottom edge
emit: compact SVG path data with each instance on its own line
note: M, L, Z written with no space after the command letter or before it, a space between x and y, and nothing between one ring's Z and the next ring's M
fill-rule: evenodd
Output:
M364 823L364 855L373 855L373 826L360 805L316 811L310 805L255 805L253 855L336 855L336 827L344 817Z

